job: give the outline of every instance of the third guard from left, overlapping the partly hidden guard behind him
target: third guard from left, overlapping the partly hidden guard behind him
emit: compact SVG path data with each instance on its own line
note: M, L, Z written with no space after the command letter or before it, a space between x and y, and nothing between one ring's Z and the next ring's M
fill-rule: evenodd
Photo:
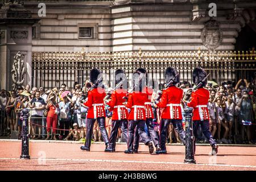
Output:
M144 104L147 101L147 94L142 90L146 86L146 76L141 72L133 73L133 92L129 94L126 107L131 109L128 117L128 144L126 154L133 154L134 130L137 126L139 136L144 144L148 146L150 154L154 152L152 139L144 131L146 122L146 112Z

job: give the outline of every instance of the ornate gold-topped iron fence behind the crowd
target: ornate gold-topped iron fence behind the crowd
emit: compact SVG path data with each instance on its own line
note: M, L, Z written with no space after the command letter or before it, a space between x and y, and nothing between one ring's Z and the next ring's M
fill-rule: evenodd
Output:
M237 81L240 78L251 80L256 71L255 51L128 51L128 52L33 52L32 86L51 89L65 83L69 88L75 81L80 84L89 79L92 68L101 69L104 80L113 79L111 73L122 68L131 80L137 68L145 68L148 76L158 83L164 82L164 70L175 67L181 81L192 82L192 71L202 67L210 73L209 80ZM109 82L108 82L109 84ZM107 84L107 85L108 85ZM110 84L109 84L110 86ZM157 85L154 85L157 86Z

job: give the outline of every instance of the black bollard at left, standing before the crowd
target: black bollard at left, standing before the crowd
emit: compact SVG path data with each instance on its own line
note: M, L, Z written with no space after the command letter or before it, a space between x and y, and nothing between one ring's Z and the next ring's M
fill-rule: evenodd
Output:
M22 155L20 159L30 159L29 155L29 134L28 134L28 117L30 116L30 110L22 110Z

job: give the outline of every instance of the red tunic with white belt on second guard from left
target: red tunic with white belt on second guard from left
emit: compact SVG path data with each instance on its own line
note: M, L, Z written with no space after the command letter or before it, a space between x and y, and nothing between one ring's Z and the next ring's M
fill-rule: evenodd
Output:
M127 90L125 89L117 89L111 95L111 100L108 102L111 110L113 109L112 120L122 120L127 119L129 116L128 110L123 105L123 102L126 100L123 97L127 96Z

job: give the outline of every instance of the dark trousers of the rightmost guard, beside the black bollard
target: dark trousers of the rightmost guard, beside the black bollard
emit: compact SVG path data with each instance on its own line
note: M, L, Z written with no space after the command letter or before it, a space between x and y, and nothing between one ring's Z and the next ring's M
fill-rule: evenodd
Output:
M209 141L210 146L213 146L214 144L216 144L209 130L209 120L204 120L204 121L196 120L196 121L193 121L193 134L195 136L194 151L196 151L196 138L197 138L197 130L199 129L199 126L201 126L201 130L204 136Z

